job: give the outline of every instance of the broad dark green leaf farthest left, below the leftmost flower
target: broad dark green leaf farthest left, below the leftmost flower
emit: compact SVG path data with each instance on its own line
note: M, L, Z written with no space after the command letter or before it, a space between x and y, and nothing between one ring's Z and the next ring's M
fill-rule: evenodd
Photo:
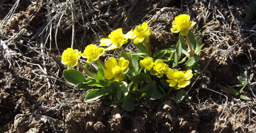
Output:
M63 77L72 86L77 86L79 82L85 81L84 75L79 70L74 69L64 70Z

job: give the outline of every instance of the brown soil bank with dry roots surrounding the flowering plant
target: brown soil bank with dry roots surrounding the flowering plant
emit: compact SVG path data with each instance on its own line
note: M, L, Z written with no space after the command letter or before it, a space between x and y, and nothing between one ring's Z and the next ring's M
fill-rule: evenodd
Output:
M243 65L248 75L256 72L256 20L243 21L248 1L100 0L75 1L71 8L69 2L49 0L48 11L47 1L19 1L17 7L15 2L0 2L0 132L256 132L255 86L243 92L251 101L221 91L239 83ZM179 105L174 95L164 102L142 99L127 112L110 107L107 97L84 103L86 92L65 83L60 56L71 45L72 24L74 47L82 50L110 29L126 32L147 21L156 49L177 43L170 27L180 13L197 22L193 31L204 43L200 66L205 71L191 98Z

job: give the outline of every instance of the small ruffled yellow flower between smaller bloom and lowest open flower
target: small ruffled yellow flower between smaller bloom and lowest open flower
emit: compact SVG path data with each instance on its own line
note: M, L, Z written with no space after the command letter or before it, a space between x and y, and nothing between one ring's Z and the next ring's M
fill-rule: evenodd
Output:
M162 59L157 59L154 62L153 69L150 70L150 74L156 75L158 78L163 77L164 74L169 72L170 68Z

